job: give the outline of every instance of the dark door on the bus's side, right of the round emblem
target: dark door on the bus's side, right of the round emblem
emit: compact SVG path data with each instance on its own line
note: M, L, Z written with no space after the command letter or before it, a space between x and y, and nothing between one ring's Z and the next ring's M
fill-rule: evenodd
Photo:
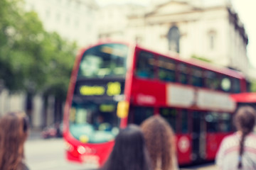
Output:
M203 112L192 113L192 156L193 162L201 162L206 153L206 126L203 120Z

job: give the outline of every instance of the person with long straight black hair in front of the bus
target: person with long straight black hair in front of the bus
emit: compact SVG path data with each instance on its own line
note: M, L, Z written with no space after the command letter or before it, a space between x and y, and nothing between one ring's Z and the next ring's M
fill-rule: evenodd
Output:
M102 170L151 170L149 153L137 125L120 130L109 159Z

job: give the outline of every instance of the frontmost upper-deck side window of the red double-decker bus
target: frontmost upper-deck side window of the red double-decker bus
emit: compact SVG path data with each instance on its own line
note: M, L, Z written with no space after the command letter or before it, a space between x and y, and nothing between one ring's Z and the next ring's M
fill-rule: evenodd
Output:
M150 52L139 52L137 56L137 77L154 78L154 55Z

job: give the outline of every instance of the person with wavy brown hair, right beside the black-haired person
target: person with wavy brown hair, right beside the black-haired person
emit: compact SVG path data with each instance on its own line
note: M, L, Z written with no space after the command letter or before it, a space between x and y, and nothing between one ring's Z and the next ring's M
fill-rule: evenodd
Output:
M142 132L154 170L178 169L174 130L160 115L142 122Z

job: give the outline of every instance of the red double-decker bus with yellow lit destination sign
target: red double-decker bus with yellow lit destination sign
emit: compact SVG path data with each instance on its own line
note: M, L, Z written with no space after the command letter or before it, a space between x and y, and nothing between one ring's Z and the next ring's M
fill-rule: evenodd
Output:
M119 42L82 50L75 60L65 103L68 160L102 165L119 128L164 117L176 132L179 164L213 160L232 131L245 92L242 74Z

